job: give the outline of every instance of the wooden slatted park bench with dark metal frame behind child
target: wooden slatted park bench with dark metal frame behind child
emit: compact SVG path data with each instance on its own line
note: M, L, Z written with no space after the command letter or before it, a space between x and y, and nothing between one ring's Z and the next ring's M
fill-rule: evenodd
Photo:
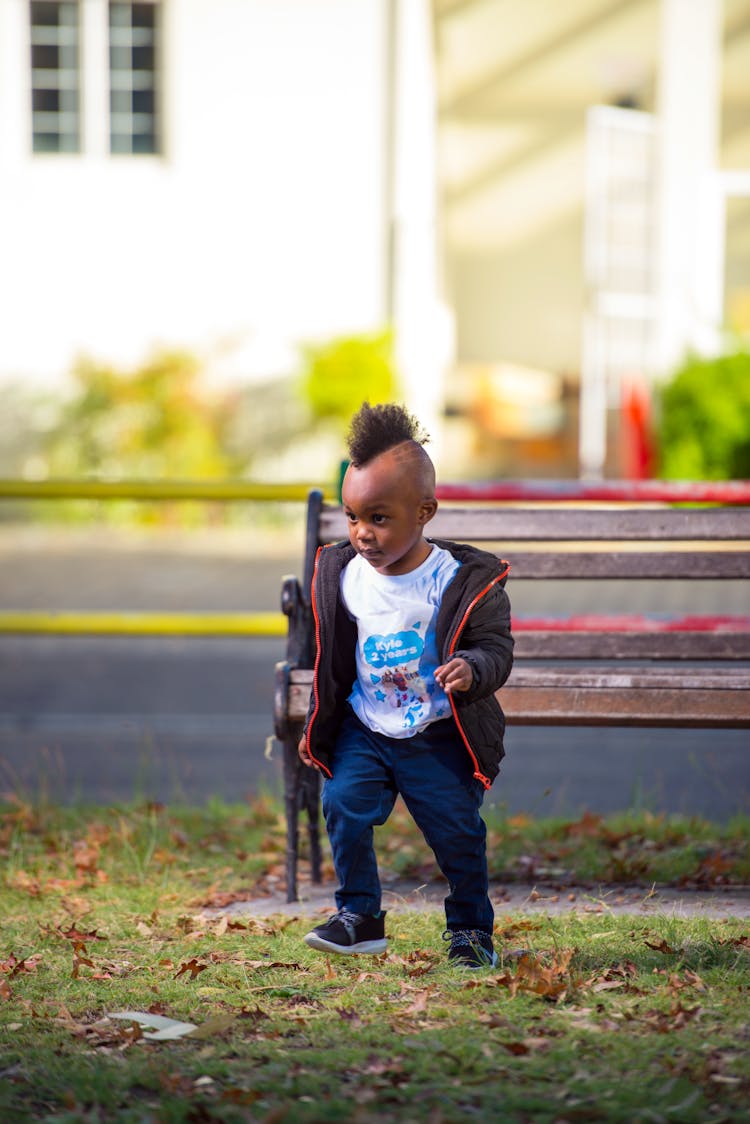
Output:
M427 535L472 542L519 580L699 582L750 577L750 486L443 486ZM471 498L467 500L467 496ZM575 505L575 506L572 506ZM319 777L297 744L315 659L309 590L315 554L347 538L341 507L309 496L304 577L284 578L287 658L277 664L275 735L283 743L287 896L297 900L298 817L309 821L310 877L320 881ZM750 607L750 598L743 604ZM498 692L509 725L750 727L750 616L514 616L515 662Z

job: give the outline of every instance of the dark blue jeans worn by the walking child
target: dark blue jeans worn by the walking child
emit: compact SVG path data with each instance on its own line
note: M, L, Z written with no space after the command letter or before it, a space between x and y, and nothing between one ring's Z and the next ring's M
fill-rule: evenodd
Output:
M451 891L449 930L493 932L488 896L485 796L452 718L414 737L377 734L349 711L336 740L333 777L323 785L325 816L338 878L336 906L380 910L380 879L372 828L385 824L400 794L434 852Z

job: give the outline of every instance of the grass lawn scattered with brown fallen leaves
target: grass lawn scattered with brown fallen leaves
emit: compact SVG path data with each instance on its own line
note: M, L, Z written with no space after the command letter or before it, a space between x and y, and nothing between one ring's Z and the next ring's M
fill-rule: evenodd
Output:
M326 958L278 887L279 808L0 813L0 1121L750 1121L750 923L505 915L496 969L448 967L442 916ZM385 864L427 870L396 815ZM747 823L490 823L494 873L747 882ZM119 1017L123 1015L123 1017ZM117 1017L116 1017L117 1016ZM192 1024L193 1030L175 1023Z

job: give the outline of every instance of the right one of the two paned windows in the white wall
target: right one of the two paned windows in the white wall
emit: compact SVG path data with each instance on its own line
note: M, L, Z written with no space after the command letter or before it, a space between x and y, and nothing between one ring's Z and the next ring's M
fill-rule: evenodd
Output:
M109 148L112 153L159 152L155 3L110 0Z

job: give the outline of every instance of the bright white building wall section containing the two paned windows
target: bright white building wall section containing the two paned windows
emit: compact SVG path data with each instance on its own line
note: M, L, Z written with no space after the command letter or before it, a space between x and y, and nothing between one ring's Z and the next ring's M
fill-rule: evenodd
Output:
M0 380L381 327L382 37L379 0L0 0Z

